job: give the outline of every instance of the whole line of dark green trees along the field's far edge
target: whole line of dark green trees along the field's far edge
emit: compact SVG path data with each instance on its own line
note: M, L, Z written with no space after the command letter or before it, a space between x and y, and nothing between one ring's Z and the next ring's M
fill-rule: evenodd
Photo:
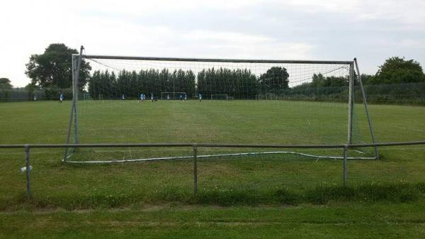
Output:
M44 99L55 99L60 93L64 93L66 99L70 99L72 95L69 94L72 94L72 91L67 89L72 86L71 55L77 52L76 49L68 48L62 43L55 43L49 45L44 53L31 55L26 65L26 74L31 79L30 84L25 87L30 92L28 95L42 91L45 94ZM150 92L159 95L162 91L185 91L188 96L196 95L198 92L205 96L227 94L239 99L252 99L255 94L261 94L261 92L294 97L302 96L307 92L313 96L319 94L331 97L337 94L344 96L346 93L344 89L348 85L348 77L326 77L322 74L314 74L311 82L290 88L288 78L289 74L283 67L272 67L260 76L246 69L226 68L210 68L197 73L165 69L91 74L89 62L83 61L79 89L80 91L89 89L89 94L94 97L105 94L105 97L115 99L119 98L123 92L130 92L137 96L140 93L149 94ZM397 94L400 95L399 97L424 94L421 87L406 87L406 84L425 84L425 74L421 65L414 60L390 57L379 67L376 74L362 74L361 78L365 86L370 86L365 88L374 89L370 94L380 95L381 99L389 94ZM0 88L5 92L12 90L10 80L1 79ZM100 91L106 91L106 93Z

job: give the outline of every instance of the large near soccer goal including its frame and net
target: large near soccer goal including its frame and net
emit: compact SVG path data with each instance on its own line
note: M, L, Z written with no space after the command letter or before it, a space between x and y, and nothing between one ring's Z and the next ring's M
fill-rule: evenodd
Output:
M356 59L126 57L83 55L83 49L81 46L79 54L72 55L73 99L66 143L375 143ZM78 87L82 61L89 62L93 68L89 84L83 89ZM327 87L329 82L340 82L341 85ZM358 84L355 86L354 82ZM79 97L82 91L85 100ZM210 99L238 101L230 105L188 101L165 106L161 102L132 104L131 101L101 100L120 99L122 94L128 99L138 99L140 94L145 94L147 99L151 95L157 98L161 95L161 99L167 99L167 96L179 99L180 95L193 98L199 94L210 96ZM362 101L363 105L355 104L355 99ZM210 120L211 116L214 120ZM158 126L157 122L164 123ZM350 158L372 159L379 156L377 148L370 148L369 152L351 151ZM108 157L106 162L186 157L174 155L176 151L67 149L63 160L94 162L93 158L96 158L97 162L98 152ZM227 154L211 150L208 155L200 157L257 153L341 158L339 152L330 150L245 150Z

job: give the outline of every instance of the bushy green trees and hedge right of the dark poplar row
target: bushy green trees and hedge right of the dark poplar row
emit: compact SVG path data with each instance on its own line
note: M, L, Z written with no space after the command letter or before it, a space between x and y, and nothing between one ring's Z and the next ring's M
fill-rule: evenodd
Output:
M354 96L362 101L358 76L354 75ZM376 74L361 74L370 103L425 104L425 74L419 62L390 57ZM283 92L285 99L346 101L349 77L314 74L312 81Z

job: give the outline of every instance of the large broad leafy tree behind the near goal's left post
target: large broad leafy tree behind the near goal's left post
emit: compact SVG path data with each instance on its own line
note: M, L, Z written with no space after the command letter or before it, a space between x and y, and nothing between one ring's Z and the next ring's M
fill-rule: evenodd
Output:
M78 51L62 43L50 44L42 55L31 55L26 64L26 75L42 88L72 87L72 54ZM90 76L88 62L81 61L79 89L83 89Z

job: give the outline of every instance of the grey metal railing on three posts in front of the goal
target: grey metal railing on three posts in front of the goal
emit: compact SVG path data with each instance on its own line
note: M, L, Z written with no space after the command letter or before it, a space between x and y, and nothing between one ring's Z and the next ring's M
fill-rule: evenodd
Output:
M251 145L251 144L217 144L217 143L118 143L118 144L19 144L0 145L0 148L23 148L26 162L26 195L30 199L30 148L192 148L193 149L193 193L198 193L198 148L341 148L343 166L343 184L348 183L348 148L386 147L401 145L425 145L423 141L392 142L392 143L363 143L363 144L336 144L336 145Z

